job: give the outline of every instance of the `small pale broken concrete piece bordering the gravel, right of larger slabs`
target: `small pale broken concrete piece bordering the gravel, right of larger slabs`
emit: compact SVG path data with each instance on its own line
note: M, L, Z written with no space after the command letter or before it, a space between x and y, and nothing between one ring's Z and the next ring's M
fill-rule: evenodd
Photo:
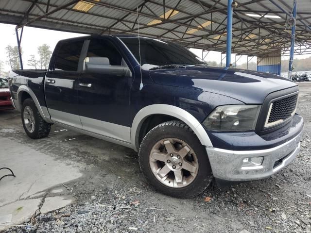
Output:
M44 200L44 203L40 209L42 214L49 213L53 210L60 209L66 205L71 204L74 201L72 196L55 196L48 197Z

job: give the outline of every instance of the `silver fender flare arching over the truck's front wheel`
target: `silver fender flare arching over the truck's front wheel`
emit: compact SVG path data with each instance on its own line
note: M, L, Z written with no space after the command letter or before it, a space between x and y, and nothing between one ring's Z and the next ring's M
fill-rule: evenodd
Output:
M174 116L182 120L193 130L203 146L213 146L202 124L186 110L169 104L152 104L140 109L134 117L131 127L131 142L134 150L139 149L138 136L142 123L148 116L155 114Z

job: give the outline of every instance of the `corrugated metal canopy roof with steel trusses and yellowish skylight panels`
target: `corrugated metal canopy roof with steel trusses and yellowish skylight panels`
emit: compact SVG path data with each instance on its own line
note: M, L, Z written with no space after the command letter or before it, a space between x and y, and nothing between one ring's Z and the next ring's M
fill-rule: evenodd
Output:
M227 0L0 0L0 22L86 34L136 34L137 7L141 35L225 51ZM260 56L290 47L285 23L292 8L293 0L238 0L232 52ZM309 48L305 52L311 50L310 26L311 2L299 0L295 42Z

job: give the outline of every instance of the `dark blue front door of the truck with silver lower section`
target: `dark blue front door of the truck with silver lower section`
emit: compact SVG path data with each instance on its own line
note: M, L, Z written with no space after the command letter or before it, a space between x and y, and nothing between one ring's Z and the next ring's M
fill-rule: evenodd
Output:
M86 43L89 46L78 92L82 129L130 142L129 93L132 72L121 50L110 39L97 37ZM95 63L93 67L97 68L88 70L85 62L95 60L102 65ZM127 67L129 72L120 74L119 68L122 66Z

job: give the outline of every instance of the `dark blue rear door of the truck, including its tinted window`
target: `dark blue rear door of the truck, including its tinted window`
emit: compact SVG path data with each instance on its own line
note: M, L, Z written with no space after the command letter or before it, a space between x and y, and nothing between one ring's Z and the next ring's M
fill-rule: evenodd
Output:
M82 129L78 106L78 71L84 40L61 42L45 78L45 98L51 118Z

